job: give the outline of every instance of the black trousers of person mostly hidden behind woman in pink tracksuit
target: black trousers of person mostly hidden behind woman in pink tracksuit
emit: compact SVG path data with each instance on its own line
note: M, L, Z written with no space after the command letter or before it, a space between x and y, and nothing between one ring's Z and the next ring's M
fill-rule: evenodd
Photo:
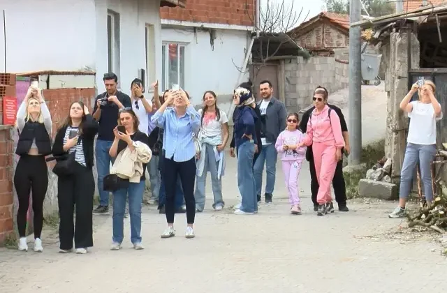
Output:
M316 195L318 193L318 179L316 177L314 157L311 156L309 160L309 171L310 171L310 189L312 193L312 202L314 205L318 205L316 201ZM344 183L343 176L343 160L337 163L335 168L334 178L332 179L332 187L334 188L335 200L339 205L346 205L346 184Z

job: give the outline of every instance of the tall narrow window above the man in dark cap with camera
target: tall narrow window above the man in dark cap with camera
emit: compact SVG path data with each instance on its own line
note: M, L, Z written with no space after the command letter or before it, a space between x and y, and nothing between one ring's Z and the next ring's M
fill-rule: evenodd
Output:
M119 13L107 13L108 72L119 76Z

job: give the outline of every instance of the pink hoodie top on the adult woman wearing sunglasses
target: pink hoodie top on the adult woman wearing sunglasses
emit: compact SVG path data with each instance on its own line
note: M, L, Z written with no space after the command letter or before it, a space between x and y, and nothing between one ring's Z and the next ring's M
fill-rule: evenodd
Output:
M312 142L333 141L337 148L341 149L344 147L340 119L335 110L330 111L329 119L328 111L328 105L325 105L319 113L316 112L316 109L312 111L309 122L307 122L307 132L303 140L307 146L311 145Z

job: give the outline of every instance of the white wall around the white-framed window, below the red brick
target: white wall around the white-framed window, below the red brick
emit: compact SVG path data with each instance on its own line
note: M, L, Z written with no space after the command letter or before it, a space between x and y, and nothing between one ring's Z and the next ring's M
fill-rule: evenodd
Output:
M210 45L210 33L193 27L165 27L162 29L163 43L184 43L185 47L185 90L189 92L193 105L202 103L203 93L217 93L221 110L230 110L231 97L242 66L245 50L249 45L249 31L217 29L214 50ZM233 61L232 61L233 59ZM233 64L234 62L234 64ZM241 82L247 81L248 74Z

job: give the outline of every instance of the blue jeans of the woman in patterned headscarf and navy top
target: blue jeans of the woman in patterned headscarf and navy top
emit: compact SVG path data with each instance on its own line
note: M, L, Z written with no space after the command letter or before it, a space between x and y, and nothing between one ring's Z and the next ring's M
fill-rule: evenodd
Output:
M258 211L258 197L253 175L254 142L242 143L237 147L237 186L242 196L241 211L254 213Z

